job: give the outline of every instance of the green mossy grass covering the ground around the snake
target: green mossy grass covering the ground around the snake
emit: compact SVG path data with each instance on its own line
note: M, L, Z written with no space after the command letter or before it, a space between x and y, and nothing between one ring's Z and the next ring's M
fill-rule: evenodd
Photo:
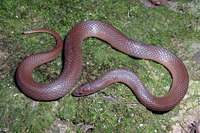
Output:
M14 75L19 63L28 55L52 49L55 40L45 33L23 35L30 29L48 28L65 38L70 29L84 20L107 22L129 38L147 44L162 46L175 53L193 75L188 58L190 42L199 42L199 16L191 10L182 11L190 1L177 1L172 9L159 7L145 9L139 0L49 0L13 1L0 3L0 131L6 132L82 132L78 125L93 125L91 132L169 132L183 105L194 101L198 107L199 81L189 88L189 99L170 112L154 114L139 104L132 92L123 84L113 84L93 96L74 98L66 94L58 101L35 102L24 96L16 86ZM165 95L172 79L161 65L147 60L131 58L113 50L108 44L88 38L83 42L83 72L78 85L94 80L105 72L125 68L138 74L148 90L156 96ZM62 56L44 64L33 73L41 83L58 78L62 69ZM196 70L196 69L195 69ZM195 95L190 92L196 90ZM103 100L114 96L121 104ZM126 104L131 102L135 104ZM183 104L183 105L182 105ZM190 110L193 107L189 107ZM189 110L188 109L188 110ZM187 112L185 113L187 114ZM61 123L55 124L61 120ZM53 126L55 125L55 127ZM183 126L187 130L186 126Z

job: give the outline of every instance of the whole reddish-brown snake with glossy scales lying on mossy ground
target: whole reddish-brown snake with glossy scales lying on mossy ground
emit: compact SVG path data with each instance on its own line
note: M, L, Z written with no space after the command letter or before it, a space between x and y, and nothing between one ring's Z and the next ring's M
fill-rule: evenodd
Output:
M175 107L187 92L188 72L177 56L161 47L131 40L116 28L101 21L84 21L72 28L65 41L64 68L61 75L54 82L37 83L32 78L33 70L41 64L54 60L63 49L63 41L56 32L48 29L30 30L24 33L34 32L50 33L57 40L57 45L53 50L25 58L17 69L18 86L24 94L35 100L59 99L73 88L82 71L82 41L87 37L102 39L109 43L111 47L132 57L149 59L164 65L170 71L173 83L167 95L155 97L133 72L117 69L93 82L79 86L72 93L74 96L88 95L114 82L122 82L130 87L146 108L154 111L168 111Z

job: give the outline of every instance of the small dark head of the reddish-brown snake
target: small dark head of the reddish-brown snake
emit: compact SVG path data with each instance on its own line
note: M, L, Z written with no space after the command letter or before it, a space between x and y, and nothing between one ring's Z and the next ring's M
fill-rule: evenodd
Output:
M91 94L90 82L80 85L72 92L72 95L76 97L86 96L90 94Z

